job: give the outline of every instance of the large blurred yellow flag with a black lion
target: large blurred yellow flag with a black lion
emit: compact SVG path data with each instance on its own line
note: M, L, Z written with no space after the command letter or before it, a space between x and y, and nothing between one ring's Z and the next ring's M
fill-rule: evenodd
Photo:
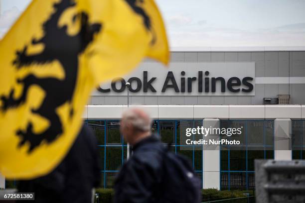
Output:
M98 84L144 57L168 63L153 0L33 0L0 41L0 172L30 179L54 169Z

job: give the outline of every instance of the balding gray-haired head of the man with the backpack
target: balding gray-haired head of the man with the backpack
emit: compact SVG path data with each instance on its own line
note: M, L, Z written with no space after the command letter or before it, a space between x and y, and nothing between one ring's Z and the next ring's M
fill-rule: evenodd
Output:
M130 108L123 113L121 132L124 139L134 145L151 134L152 120L142 109Z

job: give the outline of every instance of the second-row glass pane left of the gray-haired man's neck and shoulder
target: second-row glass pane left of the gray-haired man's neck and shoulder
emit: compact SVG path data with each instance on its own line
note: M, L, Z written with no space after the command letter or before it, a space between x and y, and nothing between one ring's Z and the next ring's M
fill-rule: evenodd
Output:
M119 170L122 165L122 147L106 147L106 171Z

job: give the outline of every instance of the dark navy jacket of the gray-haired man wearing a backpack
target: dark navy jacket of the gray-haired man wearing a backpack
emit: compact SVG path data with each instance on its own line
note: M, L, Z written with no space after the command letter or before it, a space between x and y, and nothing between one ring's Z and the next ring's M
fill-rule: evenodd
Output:
M154 135L133 147L115 182L115 203L159 203L163 152Z

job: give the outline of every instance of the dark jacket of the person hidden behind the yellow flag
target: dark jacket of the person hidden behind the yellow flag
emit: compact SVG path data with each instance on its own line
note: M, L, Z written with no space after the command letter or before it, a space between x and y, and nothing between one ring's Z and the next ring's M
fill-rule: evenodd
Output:
M91 203L100 176L97 141L84 125L64 160L50 174L20 181L17 188L18 192L35 193L36 203Z

